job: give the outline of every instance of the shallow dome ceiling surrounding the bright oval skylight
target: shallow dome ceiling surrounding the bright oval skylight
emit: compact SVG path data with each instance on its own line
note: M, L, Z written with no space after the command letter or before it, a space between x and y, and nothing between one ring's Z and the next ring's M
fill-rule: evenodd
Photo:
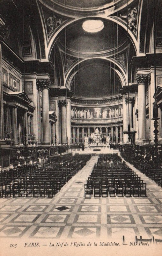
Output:
M92 19L92 18L91 18ZM117 52L126 46L127 35L117 24L106 19L94 18L94 20L101 20L104 23L104 28L96 33L86 32L82 25L86 20L81 19L73 22L70 26L63 29L61 35L58 37L57 44L60 44L66 52L73 52L73 54L105 54ZM117 40L118 36L118 40Z

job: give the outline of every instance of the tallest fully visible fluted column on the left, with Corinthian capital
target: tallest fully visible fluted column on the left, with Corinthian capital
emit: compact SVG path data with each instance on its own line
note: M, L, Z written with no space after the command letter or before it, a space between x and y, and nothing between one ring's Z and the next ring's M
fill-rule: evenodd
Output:
M49 79L39 80L42 88L42 128L43 128L43 141L42 144L50 145L50 126L49 126Z

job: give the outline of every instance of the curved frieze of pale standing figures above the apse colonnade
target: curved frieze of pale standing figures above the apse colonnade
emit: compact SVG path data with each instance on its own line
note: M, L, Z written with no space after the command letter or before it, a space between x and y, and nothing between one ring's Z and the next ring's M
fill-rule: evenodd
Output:
M71 117L81 119L93 119L93 118L113 118L121 117L123 115L122 105L114 107L102 107L102 108L85 108L80 109L78 107L71 107Z

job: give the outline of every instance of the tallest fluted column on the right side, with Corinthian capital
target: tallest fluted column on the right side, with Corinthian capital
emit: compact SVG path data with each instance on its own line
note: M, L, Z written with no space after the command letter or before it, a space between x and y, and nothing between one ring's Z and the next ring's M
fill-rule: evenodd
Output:
M148 75L137 75L138 83L138 132L139 140L146 140L146 101L145 84L148 81Z

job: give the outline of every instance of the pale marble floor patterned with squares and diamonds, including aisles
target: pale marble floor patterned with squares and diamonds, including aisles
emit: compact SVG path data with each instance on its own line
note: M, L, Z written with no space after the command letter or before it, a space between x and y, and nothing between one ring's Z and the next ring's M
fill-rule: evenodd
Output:
M162 239L162 188L135 169L147 183L147 197L85 199L96 162L92 156L54 198L0 198L0 237Z

